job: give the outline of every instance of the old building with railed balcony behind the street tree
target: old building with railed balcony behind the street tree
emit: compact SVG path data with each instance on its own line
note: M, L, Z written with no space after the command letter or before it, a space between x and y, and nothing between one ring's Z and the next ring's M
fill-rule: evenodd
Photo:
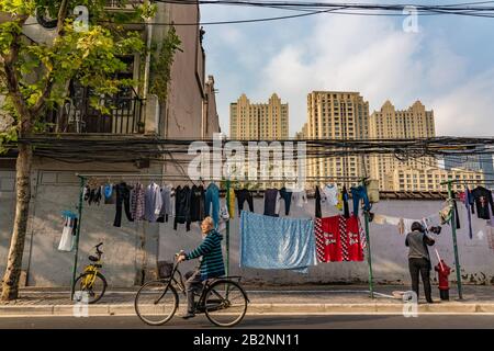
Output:
M197 23L200 19L199 4L159 2L157 7L154 22ZM109 7L108 11L123 9ZM41 27L36 19L30 19L27 23L23 31L31 41L52 39L53 31ZM139 31L144 42L157 49L169 33L167 26L144 23L132 24L131 29ZM40 136L69 146L56 157L40 155L38 149L34 152L31 214L22 267L27 285L68 286L70 283L74 252L60 252L57 247L63 228L61 212L77 212L80 185L76 173L158 176L155 179L143 178L141 182L144 184L150 181L162 183L159 174L180 174L183 184L187 182L183 166L179 160L175 161L180 155L164 154L156 140L201 139L220 132L214 78L206 80L205 75L203 33L198 25L177 26L176 33L181 44L170 68L167 93L151 91L150 81L155 75L151 65L146 64L146 56L135 54L123 58L127 69L121 76L144 83L104 97L101 102L112 106L110 113L92 109L89 104L91 91L72 81L67 103L47 114L50 124ZM150 52L150 60L154 53ZM88 146L81 147L81 143ZM114 146L103 147L105 143ZM126 151L133 145L141 146ZM94 146L101 149L94 151ZM125 151L121 150L122 147L126 147ZM4 271L12 233L14 180L15 150L12 150L9 157L0 158L0 272ZM120 181L133 182L125 176L109 180ZM114 204L85 204L78 271L87 262L88 253L92 253L92 247L103 241L103 269L109 284L141 284L155 271L158 248L166 246L161 240L172 230L170 223L130 223L123 219L121 227L114 227Z

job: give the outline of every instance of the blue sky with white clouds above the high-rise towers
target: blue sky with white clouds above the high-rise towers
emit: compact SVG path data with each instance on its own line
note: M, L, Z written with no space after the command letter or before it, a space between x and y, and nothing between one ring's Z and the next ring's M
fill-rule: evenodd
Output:
M203 5L201 20L293 13ZM293 135L306 121L310 91L348 90L359 91L371 112L388 99L397 109L419 99L435 111L438 135L494 135L494 19L420 16L417 33L403 31L403 20L318 14L205 26L222 129L228 133L228 106L242 93L261 102L277 92L290 105Z

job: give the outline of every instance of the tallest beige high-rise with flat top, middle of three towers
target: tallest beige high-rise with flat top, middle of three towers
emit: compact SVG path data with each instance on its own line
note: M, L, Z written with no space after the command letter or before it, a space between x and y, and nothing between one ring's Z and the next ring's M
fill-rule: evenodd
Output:
M310 139L367 139L369 103L358 92L313 91L307 95ZM368 174L364 157L340 156L307 160L308 177L358 178ZM351 184L356 182L348 182Z

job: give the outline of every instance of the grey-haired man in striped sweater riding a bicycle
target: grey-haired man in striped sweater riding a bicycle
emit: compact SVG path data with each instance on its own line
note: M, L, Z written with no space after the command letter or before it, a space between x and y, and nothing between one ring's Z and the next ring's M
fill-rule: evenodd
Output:
M201 245L189 253L181 251L177 258L178 262L197 258L200 260L199 267L188 274L191 275L186 282L187 314L182 317L184 319L195 317L194 293L199 294L203 282L225 274L222 252L223 236L214 228L213 218L204 218L201 223L201 231L203 238Z

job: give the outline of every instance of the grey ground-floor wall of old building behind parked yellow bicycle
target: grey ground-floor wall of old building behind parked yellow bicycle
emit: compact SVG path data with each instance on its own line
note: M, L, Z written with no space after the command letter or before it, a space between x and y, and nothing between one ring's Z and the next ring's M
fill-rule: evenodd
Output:
M60 171L65 169L65 171ZM160 166L141 170L159 173ZM23 257L27 285L69 286L74 252L57 250L60 240L61 212L77 213L79 179L76 172L134 172L125 166L98 165L68 166L36 160L32 177L32 201ZM14 172L1 172L0 185L0 272L4 272L10 235L13 224ZM5 191L3 191L5 189ZM143 271L154 274L158 247L158 227L147 223L130 223L123 216L122 227L113 227L115 205L83 205L78 272L93 254L93 246L103 241L103 273L112 286L133 286L141 283ZM144 245L144 250L142 246ZM150 270L150 271L149 271Z

